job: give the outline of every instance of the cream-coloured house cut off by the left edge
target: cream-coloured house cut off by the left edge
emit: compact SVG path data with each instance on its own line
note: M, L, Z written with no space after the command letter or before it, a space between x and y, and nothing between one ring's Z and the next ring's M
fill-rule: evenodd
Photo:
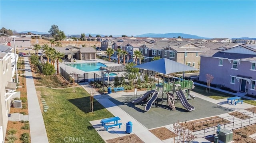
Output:
M15 71L13 67L16 66L14 62L12 67L12 49L13 47L0 44L0 142L3 142L6 135L11 99L16 90L16 82L12 82Z

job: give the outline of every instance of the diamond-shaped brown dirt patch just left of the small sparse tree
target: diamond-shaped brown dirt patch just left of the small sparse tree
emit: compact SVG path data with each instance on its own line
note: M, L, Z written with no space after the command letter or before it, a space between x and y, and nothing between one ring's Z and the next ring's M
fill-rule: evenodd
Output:
M160 128L152 129L149 131L161 140L177 137L177 135L174 132L170 131L166 127L160 127Z

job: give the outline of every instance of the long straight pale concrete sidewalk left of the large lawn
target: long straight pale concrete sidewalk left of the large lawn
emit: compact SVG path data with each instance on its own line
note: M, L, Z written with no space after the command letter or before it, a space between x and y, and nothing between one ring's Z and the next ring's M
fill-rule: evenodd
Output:
M31 143L48 143L48 137L44 126L44 119L36 95L36 88L30 69L30 64L27 57L25 57L24 60L26 69L28 115Z

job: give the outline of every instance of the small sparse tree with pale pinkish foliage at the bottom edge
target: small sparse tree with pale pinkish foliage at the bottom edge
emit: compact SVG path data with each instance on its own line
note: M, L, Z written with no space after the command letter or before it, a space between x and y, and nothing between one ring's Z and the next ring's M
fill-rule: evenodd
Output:
M173 124L173 130L177 137L177 143L190 143L194 139L196 139L196 135L192 134L192 131L188 129L188 123L185 121L182 123L182 125L179 124L179 121L177 123Z

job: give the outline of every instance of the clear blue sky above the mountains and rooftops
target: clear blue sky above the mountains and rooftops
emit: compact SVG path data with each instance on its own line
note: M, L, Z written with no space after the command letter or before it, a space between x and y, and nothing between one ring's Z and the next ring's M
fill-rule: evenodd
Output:
M0 27L66 35L186 33L202 37L256 37L256 1L13 1L0 0Z

